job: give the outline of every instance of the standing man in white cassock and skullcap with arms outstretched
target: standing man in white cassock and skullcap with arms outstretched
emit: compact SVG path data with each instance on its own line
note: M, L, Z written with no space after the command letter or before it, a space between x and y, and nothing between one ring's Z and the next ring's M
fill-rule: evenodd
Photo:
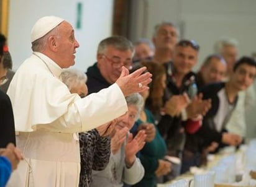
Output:
M151 81L145 67L129 74L122 67L116 83L80 98L60 80L62 68L75 64L73 27L59 17L39 19L31 32L33 54L22 63L10 84L17 147L25 159L7 186L78 186L79 141L74 133L88 131L127 111L125 96L141 92Z

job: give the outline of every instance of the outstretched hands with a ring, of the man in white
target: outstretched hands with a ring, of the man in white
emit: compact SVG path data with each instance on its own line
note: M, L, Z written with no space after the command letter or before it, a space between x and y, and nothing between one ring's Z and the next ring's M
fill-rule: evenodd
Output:
M137 69L137 71L129 74L129 70L124 66L122 67L121 75L116 80L116 84L119 85L124 96L137 92L144 92L149 89L147 84L152 81L152 74L149 72L143 73L146 69L146 67L141 67L140 69Z

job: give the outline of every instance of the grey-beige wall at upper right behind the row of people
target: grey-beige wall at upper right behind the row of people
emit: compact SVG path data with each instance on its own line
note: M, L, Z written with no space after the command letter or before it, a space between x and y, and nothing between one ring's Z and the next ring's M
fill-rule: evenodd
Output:
M201 46L197 70L214 42L223 37L239 41L239 57L256 51L255 0L134 0L136 18L130 38L152 38L153 28L162 21L171 21L181 30L181 38L196 40ZM256 83L255 83L256 89ZM256 92L256 90L255 90ZM256 104L256 103L255 103ZM256 107L247 115L248 137L256 137Z

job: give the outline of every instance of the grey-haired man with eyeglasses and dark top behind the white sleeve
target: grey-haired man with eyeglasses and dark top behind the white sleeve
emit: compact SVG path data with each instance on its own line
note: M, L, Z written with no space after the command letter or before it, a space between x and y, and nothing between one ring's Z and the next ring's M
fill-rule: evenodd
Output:
M105 38L98 45L97 62L88 67L88 94L114 84L121 74L122 66L130 69L134 46L125 37L112 36Z

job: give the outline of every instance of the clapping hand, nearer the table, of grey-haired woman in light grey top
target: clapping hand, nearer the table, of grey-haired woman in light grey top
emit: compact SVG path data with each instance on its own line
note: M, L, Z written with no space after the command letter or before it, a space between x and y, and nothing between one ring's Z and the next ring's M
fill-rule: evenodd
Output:
M126 147L124 152L126 155L126 166L132 167L136 159L136 154L141 150L145 145L146 134L144 130L139 131L134 138L132 138L132 133L129 133Z

